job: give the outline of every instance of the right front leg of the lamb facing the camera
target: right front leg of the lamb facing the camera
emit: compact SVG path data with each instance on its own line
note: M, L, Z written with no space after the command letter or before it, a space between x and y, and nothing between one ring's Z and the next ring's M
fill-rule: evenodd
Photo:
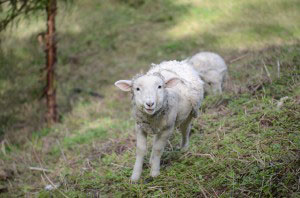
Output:
M164 148L167 141L173 131L173 127L163 131L161 134L157 134L153 139L152 153L150 157L151 164L151 176L156 177L159 175L160 170L160 158L164 152Z

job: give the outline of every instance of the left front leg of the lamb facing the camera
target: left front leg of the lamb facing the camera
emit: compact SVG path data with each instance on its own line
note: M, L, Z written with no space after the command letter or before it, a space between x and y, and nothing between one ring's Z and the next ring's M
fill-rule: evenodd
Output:
M143 132L140 127L136 126L136 160L131 175L131 181L136 182L139 180L142 169L144 157L147 153L147 134Z

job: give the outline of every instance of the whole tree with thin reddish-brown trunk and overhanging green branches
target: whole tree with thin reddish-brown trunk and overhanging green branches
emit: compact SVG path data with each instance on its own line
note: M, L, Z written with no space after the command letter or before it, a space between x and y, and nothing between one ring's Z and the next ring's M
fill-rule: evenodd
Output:
M5 0L0 2L0 31L5 30L9 23L14 22L20 16L30 16L41 10L46 11L47 32L41 32L37 38L40 46L44 49L46 55L46 86L43 90L43 95L47 100L47 114L46 119L48 124L53 124L57 121L56 110L56 87L55 87L55 65L56 65L56 30L55 30L55 16L57 13L56 0Z

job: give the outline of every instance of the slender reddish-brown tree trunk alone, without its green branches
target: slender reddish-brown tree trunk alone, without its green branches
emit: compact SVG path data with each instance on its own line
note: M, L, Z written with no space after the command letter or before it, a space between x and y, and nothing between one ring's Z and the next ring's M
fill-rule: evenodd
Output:
M57 121L56 111L56 87L55 87L55 65L56 65L56 41L55 41L55 16L57 10L56 0L47 2L47 34L46 34L46 72L47 72L47 115L48 124Z

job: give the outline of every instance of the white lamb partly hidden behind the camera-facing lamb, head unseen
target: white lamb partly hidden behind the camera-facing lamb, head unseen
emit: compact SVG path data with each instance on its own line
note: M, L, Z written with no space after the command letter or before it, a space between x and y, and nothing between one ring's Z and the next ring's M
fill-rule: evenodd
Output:
M221 94L227 76L227 65L224 59L212 52L200 52L184 60L191 64L205 82L205 91ZM211 87L211 89L210 89Z

